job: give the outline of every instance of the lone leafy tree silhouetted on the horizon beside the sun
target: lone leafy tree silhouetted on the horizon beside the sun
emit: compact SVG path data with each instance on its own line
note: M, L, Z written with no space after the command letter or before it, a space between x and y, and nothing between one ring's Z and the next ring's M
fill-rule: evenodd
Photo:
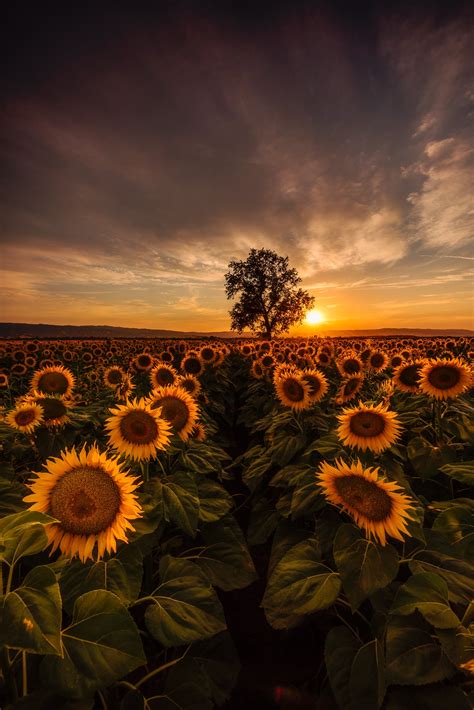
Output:
M245 261L231 261L225 276L227 298L240 295L230 311L231 328L271 338L301 323L314 298L297 288L301 278L288 257L270 249L251 249Z

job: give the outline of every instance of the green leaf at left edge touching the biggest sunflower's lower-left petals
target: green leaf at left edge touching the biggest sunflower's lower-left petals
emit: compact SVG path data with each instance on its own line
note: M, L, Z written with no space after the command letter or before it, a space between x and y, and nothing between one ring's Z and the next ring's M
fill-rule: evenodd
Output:
M7 515L0 520L0 561L15 565L27 555L35 555L48 546L44 526L55 519L36 510Z

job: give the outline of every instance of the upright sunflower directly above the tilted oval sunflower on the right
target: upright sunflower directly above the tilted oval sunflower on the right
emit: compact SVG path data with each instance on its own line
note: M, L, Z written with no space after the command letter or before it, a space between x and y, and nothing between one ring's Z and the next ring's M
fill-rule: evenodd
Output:
M388 411L382 404L344 409L339 414L337 433L345 446L365 451L384 451L400 436L400 424L396 412Z

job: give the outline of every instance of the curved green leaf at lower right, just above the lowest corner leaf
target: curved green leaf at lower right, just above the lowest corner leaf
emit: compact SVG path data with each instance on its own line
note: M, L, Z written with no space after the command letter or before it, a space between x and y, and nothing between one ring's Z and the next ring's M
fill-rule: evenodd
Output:
M432 572L410 577L398 590L390 613L407 616L416 609L438 629L454 629L460 624L448 603L448 585Z

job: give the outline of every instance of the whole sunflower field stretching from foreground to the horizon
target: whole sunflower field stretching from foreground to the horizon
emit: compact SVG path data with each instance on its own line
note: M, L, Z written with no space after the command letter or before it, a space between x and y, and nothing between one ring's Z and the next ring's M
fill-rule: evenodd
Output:
M472 347L0 343L0 707L469 710Z

